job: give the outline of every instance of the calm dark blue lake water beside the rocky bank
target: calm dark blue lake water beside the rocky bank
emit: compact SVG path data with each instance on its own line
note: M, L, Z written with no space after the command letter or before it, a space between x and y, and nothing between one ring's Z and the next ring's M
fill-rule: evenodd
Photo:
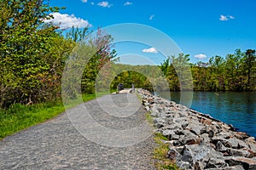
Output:
M166 92L159 95L232 124L239 131L256 137L256 92L183 92L182 98L179 92L171 92L171 96Z

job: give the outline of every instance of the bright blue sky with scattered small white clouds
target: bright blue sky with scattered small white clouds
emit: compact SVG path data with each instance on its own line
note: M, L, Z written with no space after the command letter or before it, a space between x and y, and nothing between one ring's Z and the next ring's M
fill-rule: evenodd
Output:
M256 48L256 1L255 0L51 0L51 6L66 7L55 14L55 23L62 27L113 26L136 23L151 26L171 37L190 61L204 61L214 56L233 54ZM140 36L131 29L133 36ZM161 44L158 35L147 35ZM151 44L137 42L117 43L119 55L135 54L160 64L165 56ZM172 55L167 54L167 55ZM133 57L134 60L134 57ZM125 61L124 61L125 62ZM137 64L140 61L137 61Z

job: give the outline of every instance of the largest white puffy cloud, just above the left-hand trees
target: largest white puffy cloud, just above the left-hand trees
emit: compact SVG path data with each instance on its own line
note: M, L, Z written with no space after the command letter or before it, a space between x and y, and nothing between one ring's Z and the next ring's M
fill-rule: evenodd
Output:
M54 19L45 20L44 22L51 22L55 26L60 26L61 29L71 28L72 26L78 26L79 28L91 26L88 20L77 18L74 14L52 13L52 15Z

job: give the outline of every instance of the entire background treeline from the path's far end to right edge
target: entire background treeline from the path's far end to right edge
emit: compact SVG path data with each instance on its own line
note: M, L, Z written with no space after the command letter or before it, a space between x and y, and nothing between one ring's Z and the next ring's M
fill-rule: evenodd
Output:
M236 49L234 54L225 58L214 56L209 62L189 62L189 54L171 56L159 65L160 71L166 77L165 86L159 73L153 65L120 65L123 69L112 82L112 88L119 82L130 88L131 83L137 87L160 88L161 90L196 90L196 91L253 91L256 90L256 54L254 49L241 52ZM149 80L149 77L155 77Z

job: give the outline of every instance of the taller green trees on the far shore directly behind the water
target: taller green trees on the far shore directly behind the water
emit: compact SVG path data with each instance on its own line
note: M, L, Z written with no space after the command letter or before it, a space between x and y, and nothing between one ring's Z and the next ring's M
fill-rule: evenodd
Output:
M209 59L208 63L198 62L191 64L189 63L189 55L184 54L179 54L178 57L172 56L160 65L160 69L166 75L171 90L186 89L181 87L181 83L178 81L180 77L178 77L177 70L180 69L176 69L177 63L189 65L193 77L194 90L256 90L256 54L254 49L247 49L245 52L236 49L234 54L227 54L225 58L214 56Z

